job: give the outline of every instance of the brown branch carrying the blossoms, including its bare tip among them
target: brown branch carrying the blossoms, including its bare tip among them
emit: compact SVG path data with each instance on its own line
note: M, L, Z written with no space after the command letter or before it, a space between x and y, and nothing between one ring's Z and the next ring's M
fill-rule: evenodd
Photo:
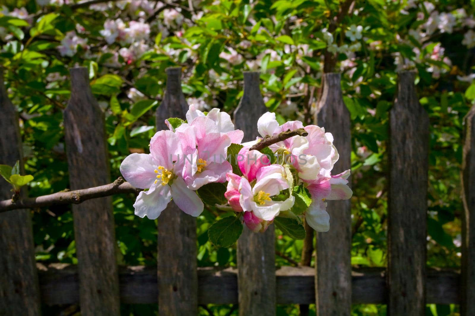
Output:
M296 135L306 136L307 132L305 132L303 128L297 128L293 131L289 129L277 135L263 138L260 142L253 145L250 150L261 150L267 146L284 141L285 139ZM41 208L51 205L80 204L89 199L103 198L121 193L138 194L140 191L142 191L142 189L133 187L129 182L124 182L123 178L119 177L112 183L93 188L74 191L64 190L36 198L23 199L13 196L12 199L0 201L0 213L21 208Z

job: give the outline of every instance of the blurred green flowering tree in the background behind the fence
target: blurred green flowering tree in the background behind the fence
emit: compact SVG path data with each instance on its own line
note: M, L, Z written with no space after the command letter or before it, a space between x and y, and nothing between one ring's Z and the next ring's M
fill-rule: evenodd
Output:
M269 111L280 123L299 119L304 124L313 121L321 73L341 72L353 129L352 262L383 266L388 109L397 72L413 69L431 120L428 264L459 264L462 118L475 100L474 0L2 4L0 62L21 117L26 169L35 177L33 195L62 190L68 183L61 110L69 97L67 69L75 64L88 67L106 113L117 176L124 156L148 149L169 66L183 67L189 103L229 113L242 95L242 71L260 71ZM133 217L132 203L114 197L121 261L152 263L156 226ZM66 210L49 208L33 217L38 260L76 261ZM201 217L214 215L205 211ZM235 264L235 250L213 248L208 224L201 223L199 265ZM300 241L279 237L277 245L278 264L299 261ZM291 307L286 310L293 313ZM450 313L443 307L432 310L439 316ZM355 307L354 313L378 315L378 309Z

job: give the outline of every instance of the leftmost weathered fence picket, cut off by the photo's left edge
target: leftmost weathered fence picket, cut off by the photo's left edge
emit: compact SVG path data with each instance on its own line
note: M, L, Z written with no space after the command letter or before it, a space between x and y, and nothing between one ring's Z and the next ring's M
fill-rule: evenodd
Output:
M0 164L13 166L23 155L18 117L3 84L0 67ZM12 196L11 185L0 177L0 199ZM23 192L25 193L25 192ZM28 209L0 214L0 315L40 315L38 275Z

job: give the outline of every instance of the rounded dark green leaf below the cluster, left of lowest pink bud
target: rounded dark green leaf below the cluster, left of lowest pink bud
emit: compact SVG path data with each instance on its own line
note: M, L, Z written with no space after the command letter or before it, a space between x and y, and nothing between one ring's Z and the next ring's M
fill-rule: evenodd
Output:
M208 237L211 243L217 247L230 247L237 242L241 233L240 217L229 216L211 225L208 230Z

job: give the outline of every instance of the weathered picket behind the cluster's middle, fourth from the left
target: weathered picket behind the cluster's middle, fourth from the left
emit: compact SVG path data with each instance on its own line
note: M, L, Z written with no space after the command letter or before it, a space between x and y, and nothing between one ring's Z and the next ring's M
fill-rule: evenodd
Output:
M234 112L243 142L256 139L257 120L267 112L259 90L259 72L244 72L244 94ZM275 230L253 233L244 227L237 242L240 316L276 315Z

